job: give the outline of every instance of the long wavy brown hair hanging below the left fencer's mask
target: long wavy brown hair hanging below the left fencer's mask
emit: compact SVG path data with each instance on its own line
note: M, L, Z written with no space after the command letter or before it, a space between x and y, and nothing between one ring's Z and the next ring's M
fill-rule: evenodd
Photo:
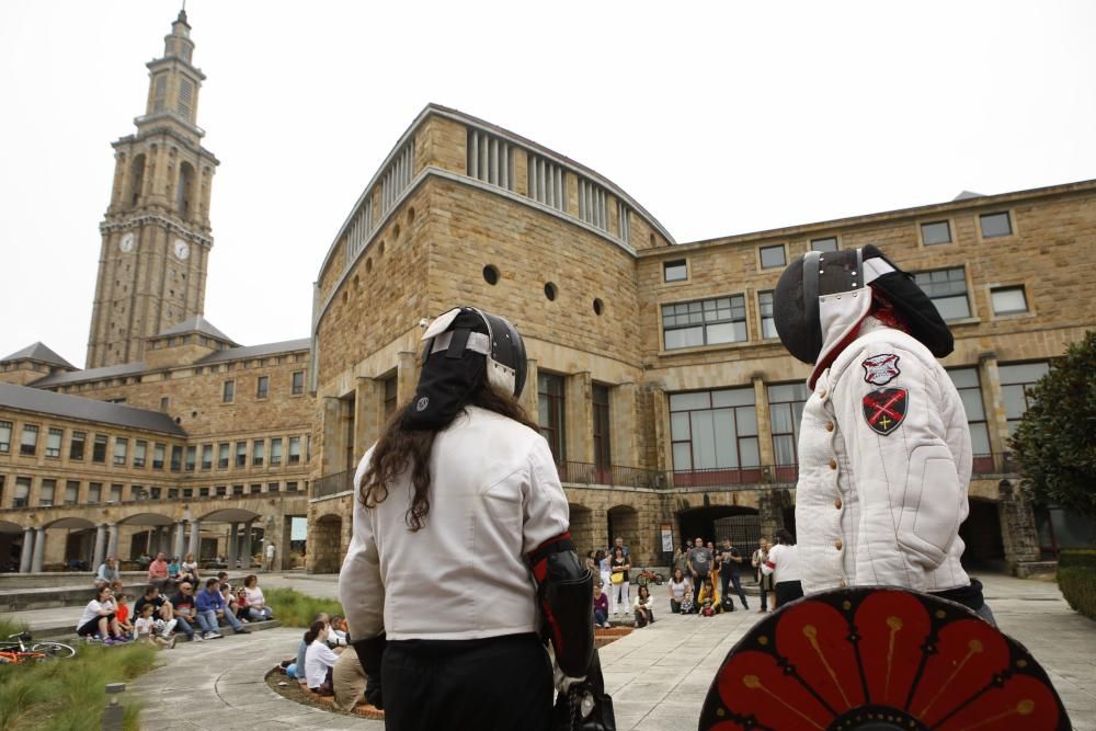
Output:
M525 409L516 399L496 391L482 379L479 387L461 404L461 411L468 406L493 411L534 431L539 430L536 424L529 421ZM426 514L430 513L430 453L434 448L434 437L439 431L403 429L403 414L413 407L414 401L409 401L388 420L385 433L373 449L369 467L362 477L361 494L358 495L362 503L369 509L385 502L385 499L388 498L388 486L403 473L403 470L408 468L408 462L410 462L413 493L411 506L408 507L403 519L412 533L426 524Z

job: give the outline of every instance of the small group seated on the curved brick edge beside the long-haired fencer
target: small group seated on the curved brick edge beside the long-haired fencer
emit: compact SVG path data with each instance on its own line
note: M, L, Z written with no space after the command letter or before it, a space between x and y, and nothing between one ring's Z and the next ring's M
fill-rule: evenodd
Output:
M284 660L282 669L301 688L334 696L340 710L353 710L363 699L379 708L380 692L367 687L365 671L349 639L345 618L318 614L297 646L297 655Z

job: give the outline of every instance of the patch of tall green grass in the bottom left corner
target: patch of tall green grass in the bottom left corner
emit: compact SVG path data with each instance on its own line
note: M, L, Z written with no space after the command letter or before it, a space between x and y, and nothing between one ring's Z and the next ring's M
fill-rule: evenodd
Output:
M9 628L11 627L10 631ZM4 637L19 631L0 621ZM71 659L0 666L0 731L101 729L109 683L128 682L156 666L147 644L75 644ZM125 728L140 728L136 694L125 694Z

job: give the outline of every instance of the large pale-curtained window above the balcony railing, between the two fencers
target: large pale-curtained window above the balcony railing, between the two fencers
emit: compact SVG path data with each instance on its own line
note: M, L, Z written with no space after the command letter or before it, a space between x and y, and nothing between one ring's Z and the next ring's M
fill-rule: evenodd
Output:
M741 470L761 466L752 387L672 393L670 434L675 472L738 470L721 477L740 482L761 479L760 470L741 475Z

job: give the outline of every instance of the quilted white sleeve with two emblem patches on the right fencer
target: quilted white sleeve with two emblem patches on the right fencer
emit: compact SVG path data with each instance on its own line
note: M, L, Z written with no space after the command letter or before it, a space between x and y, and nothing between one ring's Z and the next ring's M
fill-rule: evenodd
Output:
M860 366L879 355L898 358L899 374L882 386L868 382ZM877 341L861 346L837 393L861 505L859 530L879 562L875 572L909 576L918 589L906 566L932 571L944 561L959 533L966 491L946 441L940 386L917 354Z

